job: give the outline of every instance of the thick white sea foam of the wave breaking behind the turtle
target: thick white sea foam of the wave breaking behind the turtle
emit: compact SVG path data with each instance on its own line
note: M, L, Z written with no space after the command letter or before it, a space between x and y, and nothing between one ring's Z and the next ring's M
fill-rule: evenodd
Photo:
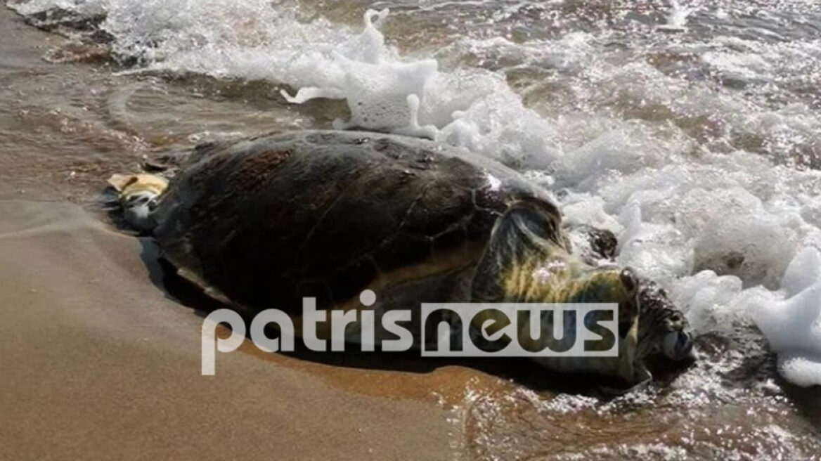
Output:
M661 281L697 332L755 322L787 379L821 382L821 172L793 166L821 149L821 116L801 99L821 75L816 41L719 36L634 56L612 33L467 36L410 58L386 45L386 11L369 11L357 32L267 0L17 8L54 6L108 11L115 52L144 69L287 84L293 103L346 100L351 116L337 126L421 135L517 167L557 194L567 221L617 233L619 262ZM692 7L668 11L668 25L691 25ZM664 70L677 60L684 72ZM514 90L521 71L539 77Z

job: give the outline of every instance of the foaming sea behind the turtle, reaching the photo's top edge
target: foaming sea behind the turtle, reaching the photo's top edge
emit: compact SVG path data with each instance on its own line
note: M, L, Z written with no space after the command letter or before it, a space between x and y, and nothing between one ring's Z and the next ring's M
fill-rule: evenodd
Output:
M821 5L9 5L103 15L121 73L262 80L295 107L341 101L338 129L435 139L522 171L565 221L616 233L617 262L661 283L696 335L727 343L667 404L731 402L749 390L727 375L768 351L787 381L821 385Z

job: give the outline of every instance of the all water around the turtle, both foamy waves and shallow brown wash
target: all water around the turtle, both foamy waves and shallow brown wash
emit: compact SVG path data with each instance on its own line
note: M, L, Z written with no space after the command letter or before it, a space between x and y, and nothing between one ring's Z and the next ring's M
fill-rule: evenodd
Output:
M44 39L4 20L4 199L98 209L103 180L146 156L351 116L404 130L415 93L426 135L525 171L555 194L567 221L616 232L619 262L661 281L700 335L695 367L609 401L475 367L421 378L374 371L379 386L370 375L312 369L317 377L451 409L467 459L821 454L821 278L811 253L821 249L821 7L11 3L26 14L61 6L80 18L108 15L89 25L106 30L108 44L77 21L40 21L60 33ZM385 7L378 30L387 46L377 29L360 36L365 11ZM347 100L291 104L280 94L311 86Z

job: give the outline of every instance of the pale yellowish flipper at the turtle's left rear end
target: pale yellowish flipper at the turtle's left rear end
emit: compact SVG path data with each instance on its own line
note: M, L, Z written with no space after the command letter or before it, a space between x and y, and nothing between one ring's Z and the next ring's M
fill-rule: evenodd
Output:
M135 230L154 230L156 222L152 216L160 195L168 187L168 181L155 175L113 175L108 178L119 194L123 217Z

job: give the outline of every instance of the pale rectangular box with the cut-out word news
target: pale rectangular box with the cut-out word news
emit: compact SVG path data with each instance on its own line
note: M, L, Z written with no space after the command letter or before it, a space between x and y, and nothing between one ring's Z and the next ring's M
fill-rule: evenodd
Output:
M433 315L436 314L436 315ZM449 318L426 337L429 319ZM617 357L618 304L422 304L422 357ZM478 327L478 328L477 328Z

